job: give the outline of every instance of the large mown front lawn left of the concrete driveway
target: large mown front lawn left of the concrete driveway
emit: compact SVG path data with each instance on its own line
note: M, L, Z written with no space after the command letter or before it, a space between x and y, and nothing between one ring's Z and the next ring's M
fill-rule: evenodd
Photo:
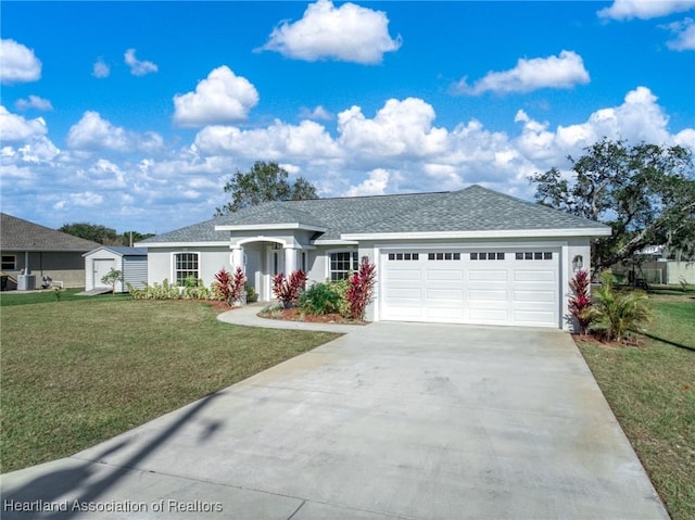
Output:
M222 324L202 302L48 296L2 299L1 472L72 455L338 335Z

